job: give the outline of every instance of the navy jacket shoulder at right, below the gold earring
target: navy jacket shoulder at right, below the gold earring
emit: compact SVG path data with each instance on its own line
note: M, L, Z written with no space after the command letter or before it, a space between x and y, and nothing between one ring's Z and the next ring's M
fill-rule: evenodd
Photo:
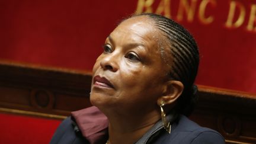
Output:
M225 139L215 130L201 127L185 116L173 124L174 129L166 139L171 143L225 143Z

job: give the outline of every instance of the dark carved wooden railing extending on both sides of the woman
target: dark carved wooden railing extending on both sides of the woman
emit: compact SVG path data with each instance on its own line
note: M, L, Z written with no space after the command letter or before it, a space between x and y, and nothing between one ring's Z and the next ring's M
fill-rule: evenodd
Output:
M0 112L65 119L89 107L91 73L0 62ZM256 95L199 85L190 119L226 143L256 143Z

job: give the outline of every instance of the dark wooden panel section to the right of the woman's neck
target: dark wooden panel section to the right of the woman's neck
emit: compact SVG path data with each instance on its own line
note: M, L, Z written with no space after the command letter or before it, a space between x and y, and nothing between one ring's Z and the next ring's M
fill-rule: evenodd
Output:
M227 143L256 143L256 95L199 86L190 119L220 132Z

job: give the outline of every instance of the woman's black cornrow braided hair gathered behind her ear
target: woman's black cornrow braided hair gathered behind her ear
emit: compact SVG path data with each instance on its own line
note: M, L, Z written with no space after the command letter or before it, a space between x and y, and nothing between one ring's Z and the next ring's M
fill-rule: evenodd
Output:
M139 14L133 17L146 15L153 20L156 28L164 33L171 45L172 57L170 78L181 81L184 90L178 98L176 110L178 113L189 116L197 101L197 87L194 85L199 67L199 50L193 36L174 20L157 14Z

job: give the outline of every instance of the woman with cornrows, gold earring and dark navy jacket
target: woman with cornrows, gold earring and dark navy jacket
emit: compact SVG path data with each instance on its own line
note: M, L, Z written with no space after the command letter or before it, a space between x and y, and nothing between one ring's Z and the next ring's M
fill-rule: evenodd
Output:
M95 107L73 112L51 143L225 143L185 117L198 66L197 44L180 24L156 14L124 20L92 70Z

